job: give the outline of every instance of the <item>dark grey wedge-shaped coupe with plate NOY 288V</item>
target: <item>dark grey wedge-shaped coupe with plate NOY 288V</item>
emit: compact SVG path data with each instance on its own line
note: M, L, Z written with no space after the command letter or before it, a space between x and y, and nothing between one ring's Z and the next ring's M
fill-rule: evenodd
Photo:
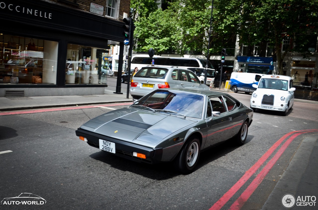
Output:
M76 135L109 154L149 164L173 161L190 173L200 151L229 139L243 145L252 117L252 109L226 93L156 89L87 121Z

